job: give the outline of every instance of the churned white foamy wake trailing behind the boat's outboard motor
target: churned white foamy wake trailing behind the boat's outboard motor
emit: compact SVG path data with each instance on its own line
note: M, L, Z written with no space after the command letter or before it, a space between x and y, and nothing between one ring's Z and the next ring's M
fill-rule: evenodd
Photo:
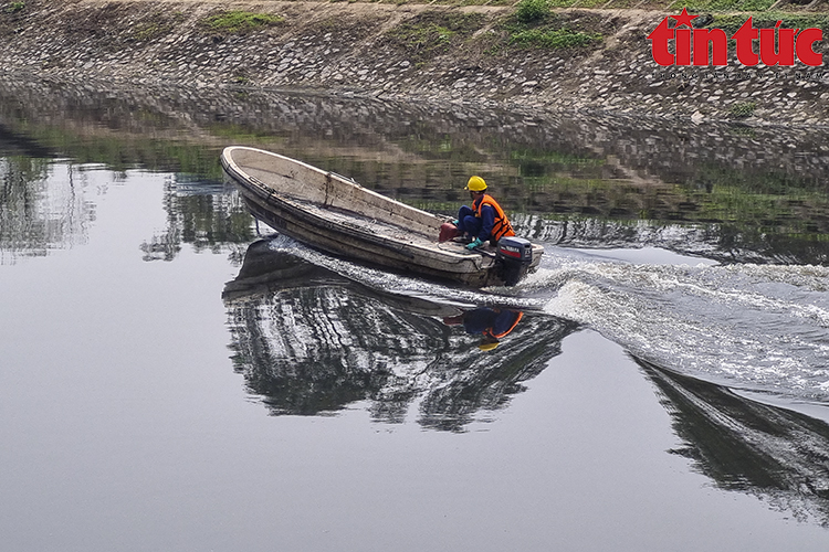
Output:
M668 369L754 391L829 401L829 268L648 265L547 257L545 311L589 325Z

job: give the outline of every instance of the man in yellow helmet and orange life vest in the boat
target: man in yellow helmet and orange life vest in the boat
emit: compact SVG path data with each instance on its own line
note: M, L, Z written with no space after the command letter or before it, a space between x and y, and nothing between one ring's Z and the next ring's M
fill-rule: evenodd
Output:
M454 225L462 236L471 240L466 245L468 250L478 248L487 240L495 245L502 237L515 235L504 210L486 193L484 179L472 177L464 189L469 190L472 206L463 205L458 211Z

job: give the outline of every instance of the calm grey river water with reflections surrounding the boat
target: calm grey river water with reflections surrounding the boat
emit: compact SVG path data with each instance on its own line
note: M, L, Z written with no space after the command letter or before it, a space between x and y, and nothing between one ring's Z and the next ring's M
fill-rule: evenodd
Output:
M827 144L0 83L3 541L826 550ZM480 173L542 266L473 291L326 256L253 222L228 145L444 214Z

